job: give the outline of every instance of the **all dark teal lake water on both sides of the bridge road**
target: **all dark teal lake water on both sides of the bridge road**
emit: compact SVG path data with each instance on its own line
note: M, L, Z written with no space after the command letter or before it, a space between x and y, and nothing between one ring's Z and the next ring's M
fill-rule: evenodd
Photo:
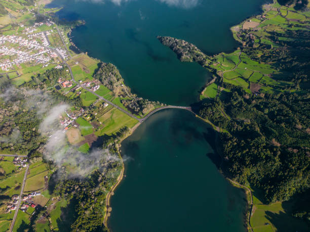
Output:
M207 54L238 47L229 27L260 12L262 0L60 1L60 18L84 19L73 42L115 64L139 97L171 105L197 102L210 74L183 63L157 35L196 44ZM122 143L126 177L111 197L112 231L244 231L244 193L209 157L215 134L182 110L152 115ZM208 157L209 156L209 157Z

